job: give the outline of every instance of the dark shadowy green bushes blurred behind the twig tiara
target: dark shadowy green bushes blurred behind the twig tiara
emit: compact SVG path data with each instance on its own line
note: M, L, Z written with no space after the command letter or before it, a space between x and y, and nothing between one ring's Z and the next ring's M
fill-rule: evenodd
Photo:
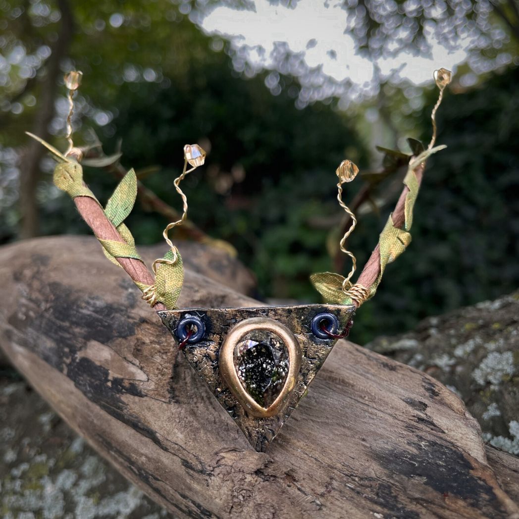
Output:
M185 88L172 86L155 95L141 88L132 95L123 87L114 124L124 161L138 169L160 164L163 169L145 182L178 207L171 182L180 171L182 145L203 135L211 153L205 171L185 183L190 217L235 245L258 277L259 296L316 302L319 295L308 275L332 269L325 223L338 223L341 214L334 170L345 156L362 165L365 146L331 107L316 104L298 111L284 93L272 97L261 78L222 74L227 65L220 56L221 63L204 68L203 81ZM376 297L358 312L353 340L397 333L425 316L516 288L519 123L509 114L519 103L517 76L518 69L511 69L472 90L447 93L438 123L439 143L448 148L429 162L413 242L388 266ZM424 142L430 138L436 91L428 97L421 117ZM110 151L115 137L105 141ZM237 165L244 179L218 193L215 179L232 177L228 172ZM100 179L99 172L90 179L107 196L113 180ZM393 202L380 215L361 219L351 239L360 264ZM58 214L54 218L64 230ZM129 225L139 242L152 243L165 223L158 220L137 209Z

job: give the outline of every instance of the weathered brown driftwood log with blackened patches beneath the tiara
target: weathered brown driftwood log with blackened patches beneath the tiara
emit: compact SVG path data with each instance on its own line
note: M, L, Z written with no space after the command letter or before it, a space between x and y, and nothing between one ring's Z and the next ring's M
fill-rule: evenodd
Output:
M175 515L519 518L517 460L485 449L461 400L413 367L340 341L257 453L94 239L4 247L0 282L10 361ZM258 303L187 270L180 305Z

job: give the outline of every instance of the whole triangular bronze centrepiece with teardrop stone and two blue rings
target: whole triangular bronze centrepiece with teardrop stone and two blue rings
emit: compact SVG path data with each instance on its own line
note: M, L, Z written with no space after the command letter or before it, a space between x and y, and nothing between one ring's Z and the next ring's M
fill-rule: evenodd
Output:
M162 322L251 445L265 452L305 394L354 306L190 308Z

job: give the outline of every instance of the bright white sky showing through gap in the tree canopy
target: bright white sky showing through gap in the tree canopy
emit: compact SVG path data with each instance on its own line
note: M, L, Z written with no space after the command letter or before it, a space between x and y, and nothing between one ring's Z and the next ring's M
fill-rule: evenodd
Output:
M342 2L307 0L298 2L295 8L288 8L272 5L268 0L255 0L255 12L218 6L204 18L202 28L209 34L220 34L229 39L234 49L249 47L243 57L253 69L275 69L272 58L275 42L286 42L293 53L303 54L308 67L322 64L325 76L339 83L349 79L353 95L368 93L374 80L374 66L356 53L353 38L344 34L349 27L347 12L340 4ZM315 39L313 47L308 45L312 39ZM454 52L449 52L435 40L431 39L429 43L432 57L402 52L393 58L378 60L381 74L394 79L408 78L420 85L432 81L435 69L453 70L467 59L463 42ZM299 74L296 72L295 75Z

